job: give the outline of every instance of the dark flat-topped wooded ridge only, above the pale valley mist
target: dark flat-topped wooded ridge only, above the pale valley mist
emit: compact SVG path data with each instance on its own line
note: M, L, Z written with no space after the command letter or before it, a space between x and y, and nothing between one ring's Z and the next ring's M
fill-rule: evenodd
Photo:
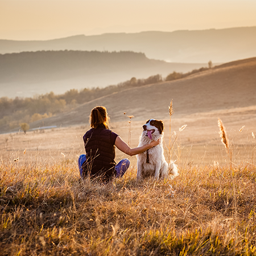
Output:
M0 55L0 82L64 80L69 77L107 73L154 65L143 53L97 51L38 51Z

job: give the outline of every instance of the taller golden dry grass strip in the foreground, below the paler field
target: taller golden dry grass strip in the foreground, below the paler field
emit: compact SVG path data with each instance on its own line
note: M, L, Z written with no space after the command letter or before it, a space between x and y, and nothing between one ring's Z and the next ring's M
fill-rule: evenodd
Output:
M2 163L0 254L256 255L255 181L250 164L140 183L131 168L102 185L76 162Z

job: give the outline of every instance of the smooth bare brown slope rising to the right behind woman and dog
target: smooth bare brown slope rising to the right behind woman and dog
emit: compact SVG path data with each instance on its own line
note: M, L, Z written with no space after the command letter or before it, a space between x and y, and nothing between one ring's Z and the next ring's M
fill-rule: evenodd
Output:
M256 105L256 57L234 61L184 79L145 85L110 94L86 102L71 112L43 120L45 126L69 126L88 122L90 110L96 105L108 109L112 122L123 121L123 112L134 115L134 120L146 118L168 119L168 105L173 99L175 116L213 113ZM248 109L245 117L255 114ZM242 118L242 117L241 117ZM42 121L31 127L42 126Z

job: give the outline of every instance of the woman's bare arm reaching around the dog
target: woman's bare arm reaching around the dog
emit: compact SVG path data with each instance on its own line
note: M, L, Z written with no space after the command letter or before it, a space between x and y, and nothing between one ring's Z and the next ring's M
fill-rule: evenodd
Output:
M157 141L151 141L150 144L144 145L142 147L135 147L135 148L130 148L119 136L115 139L115 146L122 152L124 152L127 155L133 156L140 154L151 147L154 147L160 143L160 139Z

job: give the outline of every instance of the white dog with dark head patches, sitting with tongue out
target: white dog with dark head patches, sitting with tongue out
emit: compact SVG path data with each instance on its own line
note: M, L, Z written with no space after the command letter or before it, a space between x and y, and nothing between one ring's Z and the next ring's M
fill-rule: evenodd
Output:
M157 146L137 155L137 179L139 180L142 177L149 176L154 176L155 179L159 179L159 177L165 178L168 176L168 169L170 169L171 175L177 176L178 170L176 164L172 161L168 164L164 158L163 122L155 119L149 119L142 127L143 131L141 137L139 137L138 147L149 144L151 139L156 141L160 138L160 143Z

